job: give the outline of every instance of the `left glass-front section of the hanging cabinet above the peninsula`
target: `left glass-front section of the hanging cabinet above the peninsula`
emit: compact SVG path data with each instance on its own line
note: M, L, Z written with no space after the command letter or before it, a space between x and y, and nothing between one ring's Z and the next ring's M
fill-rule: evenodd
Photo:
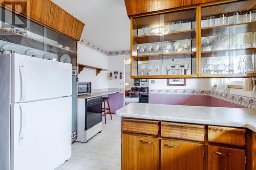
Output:
M196 8L131 18L134 78L197 77Z

